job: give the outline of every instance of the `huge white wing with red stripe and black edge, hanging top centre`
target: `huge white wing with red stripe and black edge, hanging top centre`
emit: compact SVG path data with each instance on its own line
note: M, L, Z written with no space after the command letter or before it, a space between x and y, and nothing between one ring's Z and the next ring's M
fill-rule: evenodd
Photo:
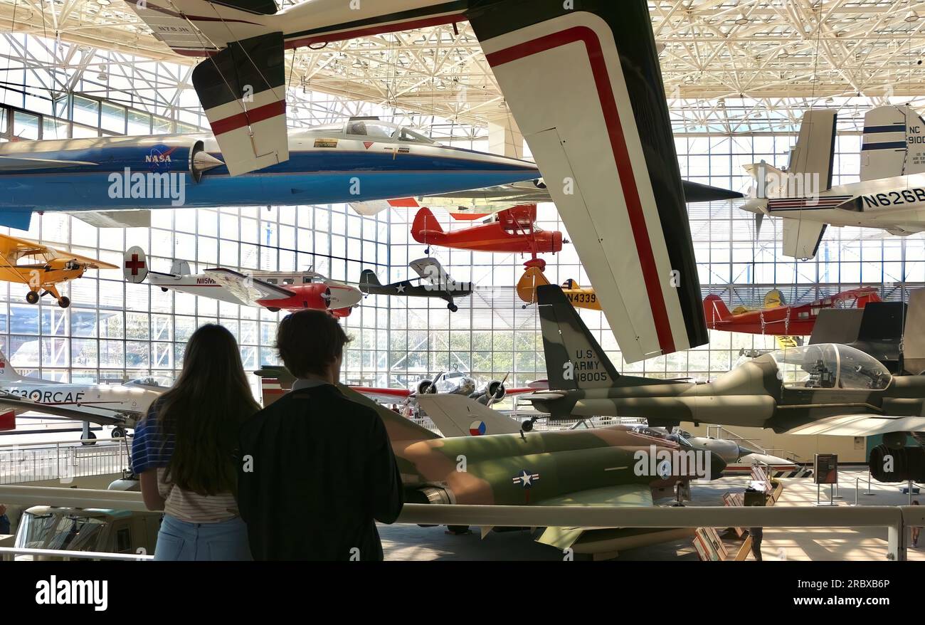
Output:
M707 343L648 3L524 4L469 19L623 358Z

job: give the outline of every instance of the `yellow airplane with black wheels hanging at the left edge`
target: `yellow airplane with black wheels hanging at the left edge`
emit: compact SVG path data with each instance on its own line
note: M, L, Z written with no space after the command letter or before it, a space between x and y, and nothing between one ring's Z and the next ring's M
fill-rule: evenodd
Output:
M30 304L38 304L39 297L49 294L57 300L58 306L67 308L70 300L58 293L56 285L80 278L87 269L118 267L34 241L0 234L0 280L29 285L26 301Z

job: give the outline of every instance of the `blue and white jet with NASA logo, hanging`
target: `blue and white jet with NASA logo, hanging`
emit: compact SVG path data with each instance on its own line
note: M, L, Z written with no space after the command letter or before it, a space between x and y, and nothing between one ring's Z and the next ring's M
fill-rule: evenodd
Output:
M95 226L144 227L150 212L139 209L355 202L539 178L528 161L443 146L376 118L282 140L290 159L237 176L208 133L0 144L0 226L28 230L33 212L65 210Z

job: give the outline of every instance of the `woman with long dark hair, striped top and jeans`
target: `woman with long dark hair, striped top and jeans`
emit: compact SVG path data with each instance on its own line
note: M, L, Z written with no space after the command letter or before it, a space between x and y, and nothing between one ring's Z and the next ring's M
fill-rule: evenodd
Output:
M179 379L131 445L145 506L165 512L155 560L251 559L235 455L241 422L259 409L231 332L215 324L193 332Z

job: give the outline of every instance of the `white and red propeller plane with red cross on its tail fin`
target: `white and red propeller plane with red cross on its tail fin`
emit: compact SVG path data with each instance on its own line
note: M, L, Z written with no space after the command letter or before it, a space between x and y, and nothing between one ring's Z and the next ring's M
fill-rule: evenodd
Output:
M240 306L263 306L270 312L310 308L343 318L363 299L356 287L328 280L311 270L245 274L218 267L191 274L189 263L174 261L169 273L161 273L148 269L147 257L138 245L130 247L124 256L122 273L126 281L137 284L147 280L164 292L202 295Z

